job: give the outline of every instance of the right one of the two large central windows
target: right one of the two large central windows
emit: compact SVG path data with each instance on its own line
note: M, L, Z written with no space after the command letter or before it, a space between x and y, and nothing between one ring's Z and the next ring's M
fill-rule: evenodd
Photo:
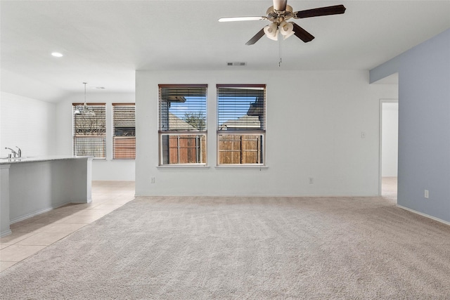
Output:
M266 86L217 84L219 165L264 164Z

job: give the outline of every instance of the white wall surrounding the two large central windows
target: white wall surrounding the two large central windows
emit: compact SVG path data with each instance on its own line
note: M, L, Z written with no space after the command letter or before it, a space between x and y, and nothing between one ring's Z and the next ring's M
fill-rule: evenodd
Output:
M215 85L243 83L267 84L267 168L216 167ZM207 167L158 167L158 84L208 84ZM136 195L378 195L380 98L365 71L138 71Z

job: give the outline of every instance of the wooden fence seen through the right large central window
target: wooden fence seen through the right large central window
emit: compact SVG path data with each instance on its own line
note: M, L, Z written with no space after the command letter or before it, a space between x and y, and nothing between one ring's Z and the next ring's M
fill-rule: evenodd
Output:
M219 164L262 164L261 135L219 135Z

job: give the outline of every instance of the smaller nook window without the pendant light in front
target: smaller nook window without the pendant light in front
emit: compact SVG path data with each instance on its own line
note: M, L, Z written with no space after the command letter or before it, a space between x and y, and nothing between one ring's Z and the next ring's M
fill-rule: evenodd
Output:
M134 103L113 103L113 159L136 157Z

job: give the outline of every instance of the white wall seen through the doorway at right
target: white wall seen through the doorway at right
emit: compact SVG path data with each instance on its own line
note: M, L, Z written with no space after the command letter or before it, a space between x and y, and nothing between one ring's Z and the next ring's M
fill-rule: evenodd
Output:
M381 124L381 176L397 177L399 151L399 103L385 102L382 105Z

